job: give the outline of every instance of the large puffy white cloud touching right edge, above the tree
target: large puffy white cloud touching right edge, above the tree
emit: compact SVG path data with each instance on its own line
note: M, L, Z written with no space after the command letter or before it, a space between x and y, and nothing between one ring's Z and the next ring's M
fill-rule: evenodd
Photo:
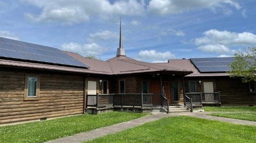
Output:
M253 45L256 44L256 35L249 32L235 33L228 31L209 30L204 32L203 37L196 38L195 44L220 44L225 46Z

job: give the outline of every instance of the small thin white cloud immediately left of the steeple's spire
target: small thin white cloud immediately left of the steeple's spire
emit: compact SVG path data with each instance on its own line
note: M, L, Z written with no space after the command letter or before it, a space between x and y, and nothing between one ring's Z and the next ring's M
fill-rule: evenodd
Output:
M118 39L119 35L118 33L105 30L105 31L94 33L94 34L89 34L89 37L93 39L109 40L109 39Z

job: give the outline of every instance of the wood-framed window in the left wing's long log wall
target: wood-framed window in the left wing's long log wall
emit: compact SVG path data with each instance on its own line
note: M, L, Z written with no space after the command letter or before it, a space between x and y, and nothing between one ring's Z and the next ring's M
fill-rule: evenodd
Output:
M24 100L36 100L39 95L39 76L25 75Z

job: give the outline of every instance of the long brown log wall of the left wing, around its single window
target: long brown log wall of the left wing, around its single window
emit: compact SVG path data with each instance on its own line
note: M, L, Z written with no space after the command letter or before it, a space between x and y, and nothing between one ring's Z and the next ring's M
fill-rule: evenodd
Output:
M40 77L39 98L24 100L25 74ZM0 70L0 124L83 111L84 77L56 72Z

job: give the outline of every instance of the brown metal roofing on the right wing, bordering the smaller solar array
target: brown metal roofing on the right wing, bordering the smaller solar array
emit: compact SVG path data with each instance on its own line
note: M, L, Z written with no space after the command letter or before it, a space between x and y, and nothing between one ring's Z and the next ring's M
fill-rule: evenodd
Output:
M168 63L157 63L159 65L176 67L184 70L193 71L193 73L186 75L185 77L199 77L199 76L229 76L228 73L200 73L198 69L191 63L189 59L181 60L168 60Z

